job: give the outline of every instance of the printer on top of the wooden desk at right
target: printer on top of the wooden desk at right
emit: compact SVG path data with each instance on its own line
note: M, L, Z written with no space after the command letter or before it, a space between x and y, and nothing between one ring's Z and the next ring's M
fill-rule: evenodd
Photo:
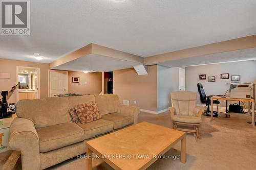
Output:
M251 87L249 85L237 85L230 90L230 98L251 99Z

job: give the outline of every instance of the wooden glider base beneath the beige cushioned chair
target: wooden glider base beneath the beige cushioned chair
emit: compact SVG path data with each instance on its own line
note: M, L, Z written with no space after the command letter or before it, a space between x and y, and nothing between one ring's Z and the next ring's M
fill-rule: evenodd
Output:
M180 128L178 126L193 127L193 129ZM197 142L198 142L198 138L200 138L200 127L201 127L200 123L191 124L191 123L173 122L173 129L194 134L194 137Z

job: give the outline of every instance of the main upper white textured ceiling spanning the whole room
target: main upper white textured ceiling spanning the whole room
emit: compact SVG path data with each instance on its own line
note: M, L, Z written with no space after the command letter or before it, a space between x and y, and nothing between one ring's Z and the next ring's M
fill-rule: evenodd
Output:
M89 43L142 57L256 34L255 0L30 1L31 35L0 36L0 58L50 63Z

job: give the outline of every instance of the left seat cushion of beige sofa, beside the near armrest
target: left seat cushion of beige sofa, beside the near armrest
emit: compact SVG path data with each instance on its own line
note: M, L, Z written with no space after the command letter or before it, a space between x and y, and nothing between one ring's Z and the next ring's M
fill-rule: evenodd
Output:
M75 123L65 123L36 130L40 152L48 152L84 140L83 129Z

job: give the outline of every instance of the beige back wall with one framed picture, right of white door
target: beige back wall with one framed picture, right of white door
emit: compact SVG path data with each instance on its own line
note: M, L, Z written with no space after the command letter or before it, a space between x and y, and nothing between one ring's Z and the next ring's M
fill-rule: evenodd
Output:
M79 77L80 83L72 83L72 77ZM86 82L86 83L85 83ZM68 71L68 92L99 94L101 92L101 72L84 73Z

